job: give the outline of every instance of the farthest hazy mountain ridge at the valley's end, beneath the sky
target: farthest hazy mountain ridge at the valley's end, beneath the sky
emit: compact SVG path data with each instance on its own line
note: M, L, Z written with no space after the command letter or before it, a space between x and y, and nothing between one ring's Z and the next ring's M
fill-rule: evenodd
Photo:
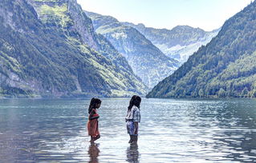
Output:
M191 26L176 26L172 30L155 29L144 24L123 22L124 26L132 26L139 30L148 40L157 46L169 58L175 58L184 63L189 56L201 46L205 46L217 35L220 29L206 32Z

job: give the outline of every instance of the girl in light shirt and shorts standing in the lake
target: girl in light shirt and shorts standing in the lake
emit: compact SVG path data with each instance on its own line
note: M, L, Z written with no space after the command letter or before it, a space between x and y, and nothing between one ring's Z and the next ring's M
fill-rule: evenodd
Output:
M140 101L141 98L139 96L132 96L130 105L128 106L127 115L125 117L125 120L127 121L127 132L130 135L129 143L136 143L138 141Z

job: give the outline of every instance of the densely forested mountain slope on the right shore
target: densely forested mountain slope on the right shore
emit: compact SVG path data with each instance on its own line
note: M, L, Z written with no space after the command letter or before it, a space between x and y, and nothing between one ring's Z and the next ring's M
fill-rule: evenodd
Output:
M256 97L256 2L147 97Z

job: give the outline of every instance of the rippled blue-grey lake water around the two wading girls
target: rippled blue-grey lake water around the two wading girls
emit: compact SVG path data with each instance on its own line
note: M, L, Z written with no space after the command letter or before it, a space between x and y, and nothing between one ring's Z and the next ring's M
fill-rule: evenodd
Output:
M0 100L0 161L256 161L256 100L143 98L138 145L128 144L129 98L102 100L95 145L89 99Z

